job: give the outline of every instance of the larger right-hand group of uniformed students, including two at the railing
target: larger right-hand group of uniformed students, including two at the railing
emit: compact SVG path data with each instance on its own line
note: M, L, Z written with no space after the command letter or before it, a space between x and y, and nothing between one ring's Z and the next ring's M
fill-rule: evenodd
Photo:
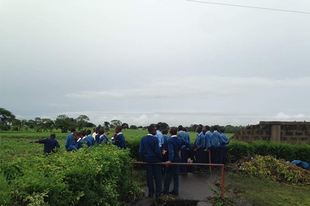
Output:
M148 163L165 162L165 177L164 187L162 189L162 165L161 164L147 164L146 176L147 185L149 189L149 197L159 197L162 194L179 194L179 174L187 174L186 166L171 165L171 163L187 163L191 158L196 163L214 163L224 164L227 147L229 143L228 138L221 131L220 134L217 128L214 127L214 132L210 132L210 127L199 125L197 127L197 135L195 143L191 146L190 137L181 125L171 127L168 137L168 130L159 131L157 125L150 125L148 127L149 134L140 140L139 154L143 161ZM177 134L177 131L179 133ZM208 151L211 153L211 162L208 161ZM205 169L206 170L206 169ZM155 187L153 182L155 177ZM173 177L173 189L169 191L170 182Z

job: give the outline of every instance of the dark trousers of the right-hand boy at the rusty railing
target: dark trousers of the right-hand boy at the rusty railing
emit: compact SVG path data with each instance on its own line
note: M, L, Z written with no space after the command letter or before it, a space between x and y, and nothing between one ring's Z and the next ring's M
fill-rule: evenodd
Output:
M174 157L172 160L172 163L180 163L181 158L180 157ZM169 192L169 186L170 182L173 176L173 190L174 192L179 192L179 172L180 172L180 166L172 166L169 165L166 169L165 174L165 181L164 181L164 189L163 192L167 193Z

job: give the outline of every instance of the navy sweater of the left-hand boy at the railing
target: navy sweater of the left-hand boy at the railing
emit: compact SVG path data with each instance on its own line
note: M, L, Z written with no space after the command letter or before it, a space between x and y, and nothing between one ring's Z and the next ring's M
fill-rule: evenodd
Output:
M142 137L140 140L139 155L145 162L161 162L162 156L158 138L152 134Z

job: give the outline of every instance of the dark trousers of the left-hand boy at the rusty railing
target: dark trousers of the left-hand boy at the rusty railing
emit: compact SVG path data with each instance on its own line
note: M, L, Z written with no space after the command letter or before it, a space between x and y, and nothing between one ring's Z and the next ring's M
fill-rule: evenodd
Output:
M162 165L147 164L145 167L146 167L146 178L147 178L147 186L149 188L149 194L153 195L155 193L156 196L161 195L161 187L162 187L161 168L162 168ZM156 190L154 190L153 175L155 175Z

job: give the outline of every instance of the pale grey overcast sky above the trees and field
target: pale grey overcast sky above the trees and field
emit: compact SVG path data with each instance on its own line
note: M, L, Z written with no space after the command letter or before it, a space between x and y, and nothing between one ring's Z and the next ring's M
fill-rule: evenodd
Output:
M310 12L309 0L213 2ZM186 0L0 0L0 107L97 125L310 121L310 15Z

